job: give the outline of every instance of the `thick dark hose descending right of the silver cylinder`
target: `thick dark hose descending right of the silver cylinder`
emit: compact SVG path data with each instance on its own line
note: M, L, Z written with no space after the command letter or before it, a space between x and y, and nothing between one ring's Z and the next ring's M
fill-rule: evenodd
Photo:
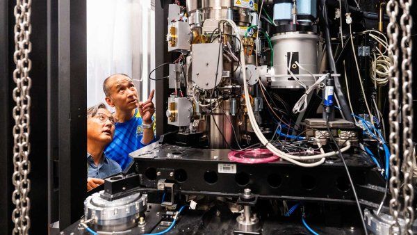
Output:
M337 73L336 70L336 63L334 62L334 56L332 51L332 44L330 41L330 30L328 25L328 18L327 18L327 8L326 8L326 0L322 0L322 17L325 21L325 35L326 35L326 52L327 52L327 59L329 60L330 69L332 72ZM342 92L341 81L339 81L338 76L334 77L334 88L336 89L336 96L338 98L338 102L340 103L343 115L345 119L349 122L354 122L352 114L350 113L349 106L347 105L345 95Z

